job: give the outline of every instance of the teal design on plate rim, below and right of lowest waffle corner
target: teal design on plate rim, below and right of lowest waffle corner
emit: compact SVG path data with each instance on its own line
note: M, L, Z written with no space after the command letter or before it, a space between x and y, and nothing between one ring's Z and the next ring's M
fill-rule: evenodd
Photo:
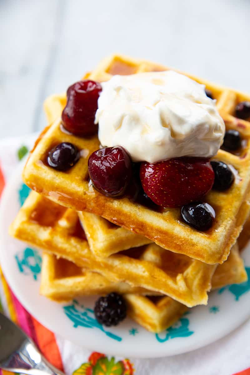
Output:
M189 330L189 319L181 318L172 327L166 329L165 332L156 333L156 340L159 342L165 342L170 339L175 339L177 337L188 337L193 335L193 333L194 331Z

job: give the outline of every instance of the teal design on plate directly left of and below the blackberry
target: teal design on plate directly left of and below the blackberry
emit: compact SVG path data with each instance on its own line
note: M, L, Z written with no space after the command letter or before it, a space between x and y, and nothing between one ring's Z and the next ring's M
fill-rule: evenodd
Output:
M116 341L121 341L122 338L115 335L112 332L106 331L102 324L98 323L94 311L92 309L85 308L80 305L78 301L73 300L72 305L67 305L63 307L66 316L74 323L74 327L85 327L85 328L98 328L105 333L111 339Z

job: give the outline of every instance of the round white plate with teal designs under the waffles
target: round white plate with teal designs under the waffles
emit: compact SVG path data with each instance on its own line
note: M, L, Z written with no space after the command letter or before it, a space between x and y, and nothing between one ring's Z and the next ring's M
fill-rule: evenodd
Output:
M22 165L4 190L0 208L0 262L22 305L45 327L77 345L127 357L163 357L201 348L230 333L250 316L250 282L210 294L208 306L191 309L160 335L127 318L115 328L100 326L93 315L96 297L58 304L39 295L40 252L8 235L8 226L28 193ZM250 276L250 246L244 260Z

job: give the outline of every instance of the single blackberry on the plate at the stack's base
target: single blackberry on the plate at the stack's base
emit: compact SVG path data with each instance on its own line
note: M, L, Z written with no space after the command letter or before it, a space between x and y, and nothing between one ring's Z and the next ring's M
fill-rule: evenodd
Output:
M94 315L98 323L104 326L117 326L126 318L127 306L123 297L117 293L109 293L100 297L94 307Z

